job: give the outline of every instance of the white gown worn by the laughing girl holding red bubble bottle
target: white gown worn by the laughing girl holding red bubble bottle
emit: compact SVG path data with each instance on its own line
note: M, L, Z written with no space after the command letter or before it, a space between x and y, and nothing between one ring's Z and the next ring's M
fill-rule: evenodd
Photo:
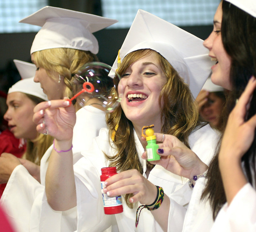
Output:
M144 149L134 132L136 149L143 166L143 176L146 177L146 161L141 159ZM212 158L217 144L218 135L209 125L193 132L189 136L190 148L205 163ZM162 231L150 211L143 209L140 214L139 225L135 228L137 206L130 209L123 202L124 212L116 215L105 215L100 188L100 169L107 167L109 161L104 153L112 156L116 150L111 147L108 140L108 130L103 128L94 139L92 147L82 152L82 157L75 165L76 197L77 197L77 231L104 231L111 223L117 223L112 231ZM171 227L169 231L181 231L186 213L186 205L190 200L192 189L187 179L166 171L162 166L156 165L148 176L153 184L161 186L164 193L171 198ZM180 205L184 207L180 207ZM177 207L176 207L177 206Z

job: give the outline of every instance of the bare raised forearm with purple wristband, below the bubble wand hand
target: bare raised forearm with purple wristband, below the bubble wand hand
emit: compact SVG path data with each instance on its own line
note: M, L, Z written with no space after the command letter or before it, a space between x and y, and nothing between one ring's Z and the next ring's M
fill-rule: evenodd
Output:
M66 151L71 146L72 139L55 140L55 148L58 151ZM72 149L67 152L57 152L52 149L45 177L45 191L47 201L54 210L65 211L76 206Z

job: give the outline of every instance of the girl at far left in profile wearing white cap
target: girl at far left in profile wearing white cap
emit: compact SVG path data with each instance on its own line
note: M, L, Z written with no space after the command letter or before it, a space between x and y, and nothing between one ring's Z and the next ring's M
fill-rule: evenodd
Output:
M22 160L19 160L15 154L8 152L7 149L1 153L0 183L2 185L0 188L2 192L5 187L3 183L7 183L14 168L19 164L24 164L24 166L32 163L39 165L40 159L53 140L51 136L38 134L36 125L32 120L34 107L38 103L48 100L40 84L33 82L36 66L20 60L14 60L14 62L22 80L12 85L8 91L6 99L8 109L4 114L4 119L8 122L10 132L14 134L15 138L24 141L26 151Z

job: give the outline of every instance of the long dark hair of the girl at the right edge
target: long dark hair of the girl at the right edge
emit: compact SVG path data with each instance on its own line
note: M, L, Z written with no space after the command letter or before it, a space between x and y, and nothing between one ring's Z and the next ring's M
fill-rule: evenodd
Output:
M228 115L234 108L236 99L241 96L250 77L252 75L256 76L256 18L226 1L222 1L222 11L221 38L224 49L231 58L229 78L232 85L232 91L228 93L224 111L224 127L226 127ZM251 102L252 104L247 110L245 121L256 113L256 105L254 104L256 102L255 91ZM242 157L245 174L251 184L253 183L253 180L256 180L255 138L254 135L254 141L251 147ZM202 194L202 199L206 198L210 201L214 220L220 211L220 208L227 201L220 175L218 153L219 150L209 165L207 173L208 181Z

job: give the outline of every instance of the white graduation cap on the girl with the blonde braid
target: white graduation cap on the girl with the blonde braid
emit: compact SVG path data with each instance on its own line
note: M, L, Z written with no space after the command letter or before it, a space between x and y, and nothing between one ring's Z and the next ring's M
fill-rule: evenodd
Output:
M99 45L92 33L116 23L117 20L45 6L20 22L42 27L35 36L30 54L51 48L73 48L97 54Z

